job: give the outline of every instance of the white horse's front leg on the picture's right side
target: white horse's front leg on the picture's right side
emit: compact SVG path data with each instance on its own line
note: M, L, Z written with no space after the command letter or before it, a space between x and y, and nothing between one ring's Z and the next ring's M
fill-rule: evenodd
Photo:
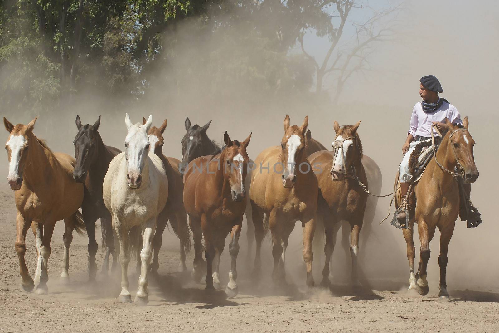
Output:
M147 276L149 274L149 266L151 266L151 257L153 255L153 238L157 222L157 219L153 218L144 223L142 227L142 243L144 244L142 251L140 251L142 267L139 277L139 289L137 290L134 301L135 303L140 305L146 305L147 303L149 303L149 293L147 292L147 285L149 284L149 282Z

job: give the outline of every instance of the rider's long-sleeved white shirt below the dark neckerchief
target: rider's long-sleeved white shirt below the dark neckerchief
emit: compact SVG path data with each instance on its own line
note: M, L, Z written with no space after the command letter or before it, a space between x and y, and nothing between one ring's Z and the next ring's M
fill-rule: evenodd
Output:
M412 111L411 123L407 133L413 137L419 135L429 138L431 136L432 122L438 121L445 124L445 118L448 118L453 124L463 123L458 109L452 104L444 101L436 111L426 113L423 111L421 102L417 102ZM437 135L437 132L434 131L433 134Z

